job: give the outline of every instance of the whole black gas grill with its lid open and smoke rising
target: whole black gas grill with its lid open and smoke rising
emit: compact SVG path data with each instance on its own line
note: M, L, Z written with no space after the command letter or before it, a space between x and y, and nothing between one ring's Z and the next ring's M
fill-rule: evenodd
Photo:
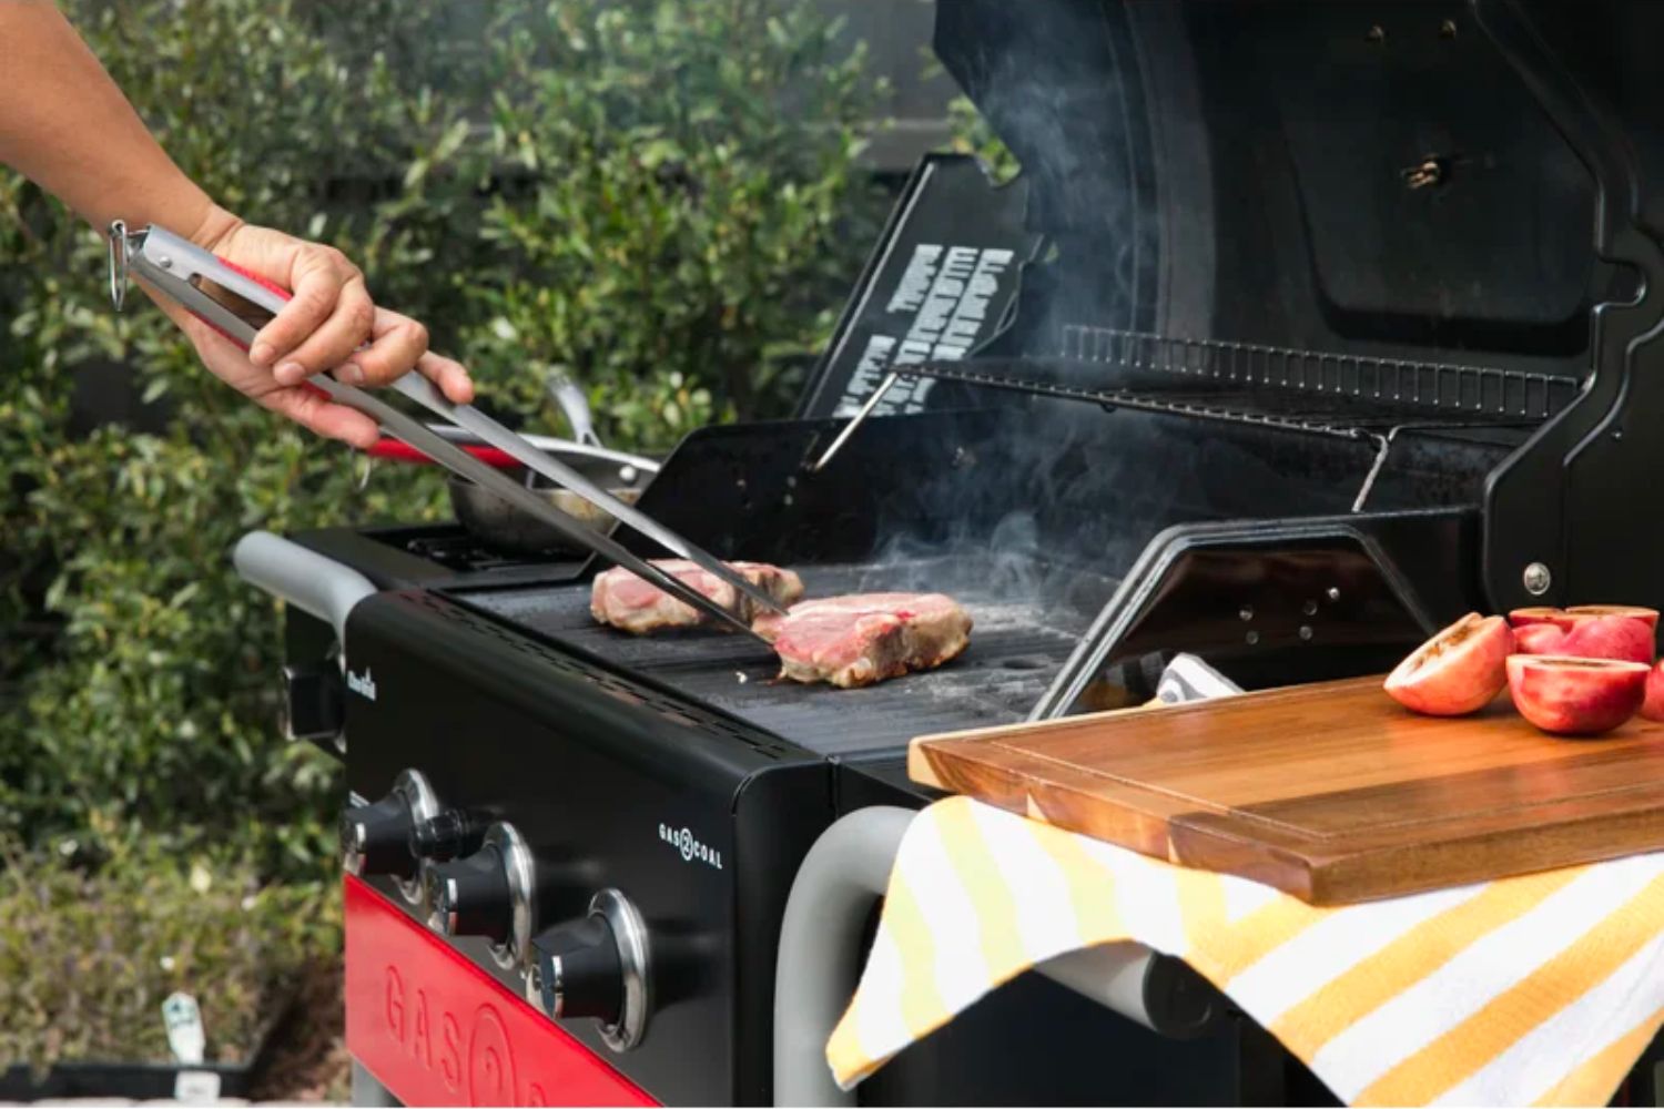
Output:
M1664 605L1661 32L1622 3L940 3L937 53L1023 176L927 158L795 417L689 436L641 509L812 595L953 594L970 650L784 683L739 637L596 627L597 567L341 529L300 542L379 592L346 627L354 692L291 617L296 732L344 735L363 800L414 770L513 825L532 931L621 890L646 1034L566 1024L659 1099L767 1099L797 861L844 811L924 800L914 735L1137 703L1178 652L1265 687L1384 668L1471 609ZM867 1097L1320 1092L1253 1029L1178 1046L1047 989Z

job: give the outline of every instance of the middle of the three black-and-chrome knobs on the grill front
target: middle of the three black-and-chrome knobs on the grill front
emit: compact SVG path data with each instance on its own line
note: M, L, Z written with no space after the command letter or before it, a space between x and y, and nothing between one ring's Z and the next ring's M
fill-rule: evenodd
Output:
M421 866L428 926L441 936L484 936L499 966L518 966L532 926L532 865L513 825L491 825L473 855Z

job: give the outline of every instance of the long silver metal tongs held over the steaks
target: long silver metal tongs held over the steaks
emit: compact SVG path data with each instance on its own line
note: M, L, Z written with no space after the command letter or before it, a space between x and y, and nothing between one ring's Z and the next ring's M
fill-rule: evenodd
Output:
M238 266L216 258L188 239L156 226L128 231L120 219L110 224L110 298L116 311L126 298L128 276L138 276L146 286L176 301L193 316L220 331L228 339L248 349L255 334L283 308L290 294ZM554 527L564 539L601 555L614 565L657 585L677 600L724 620L749 635L755 635L739 614L724 609L702 592L667 574L646 559L632 554L611 535L586 527L577 519L561 512L526 485L503 476L468 451L446 441L421 421L406 416L391 404L364 389L336 381L331 374L318 374L311 386L331 401L358 409L376 421L383 432L421 451L429 459L459 477L494 492L522 512ZM687 559L707 574L732 585L762 609L780 612L780 605L765 592L747 582L716 557L706 554L651 515L612 497L572 467L537 451L518 434L468 404L451 404L439 389L421 374L399 377L393 389L434 412L441 419L464 429L486 444L498 447L536 474L567 489L589 504L607 512L616 520L634 527L671 554ZM759 637L760 638L760 637Z

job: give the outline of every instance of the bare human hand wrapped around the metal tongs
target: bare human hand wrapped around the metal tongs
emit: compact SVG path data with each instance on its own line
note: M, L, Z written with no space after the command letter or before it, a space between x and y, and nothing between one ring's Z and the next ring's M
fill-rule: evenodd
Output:
M295 294L246 352L178 304L163 303L203 364L258 404L319 436L368 447L379 437L376 422L308 389L308 377L334 371L351 386L384 386L414 369L453 404L474 397L468 371L431 352L419 323L378 308L364 274L341 251L246 224L221 208L191 239Z

